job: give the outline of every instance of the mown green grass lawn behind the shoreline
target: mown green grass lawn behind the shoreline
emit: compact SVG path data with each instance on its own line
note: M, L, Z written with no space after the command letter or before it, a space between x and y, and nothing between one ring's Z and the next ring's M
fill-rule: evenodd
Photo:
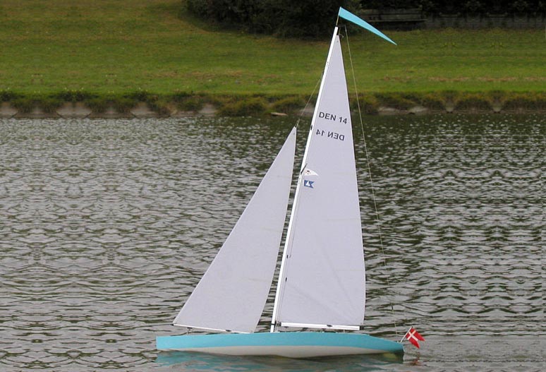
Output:
M0 91L307 97L315 88L329 40L218 30L180 8L180 0L4 0ZM387 34L397 47L349 35L360 92L545 90L544 30Z

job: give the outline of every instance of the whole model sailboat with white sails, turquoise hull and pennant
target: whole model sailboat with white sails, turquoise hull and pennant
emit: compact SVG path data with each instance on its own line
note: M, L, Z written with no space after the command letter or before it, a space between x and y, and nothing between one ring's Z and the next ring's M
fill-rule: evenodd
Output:
M390 40L360 18L339 16ZM271 332L254 330L271 287L291 187L293 128L174 325L226 332L157 337L157 349L311 357L403 352L360 333L365 266L351 111L338 28L324 68L282 256Z

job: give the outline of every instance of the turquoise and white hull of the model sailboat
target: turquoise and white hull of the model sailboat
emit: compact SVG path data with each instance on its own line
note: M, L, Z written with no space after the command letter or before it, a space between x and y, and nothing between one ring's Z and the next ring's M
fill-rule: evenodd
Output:
M259 332L157 337L157 349L289 358L403 353L399 342L370 335L333 332Z

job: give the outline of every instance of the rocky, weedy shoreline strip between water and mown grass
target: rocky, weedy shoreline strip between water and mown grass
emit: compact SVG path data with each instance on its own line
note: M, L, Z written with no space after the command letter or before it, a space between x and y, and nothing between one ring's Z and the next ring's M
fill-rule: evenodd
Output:
M78 97L74 100L73 98ZM83 92L25 97L11 94L0 101L0 119L118 119L225 116L312 116L314 105L298 95L152 95L118 96ZM68 98L68 100L67 100ZM392 92L367 93L358 104L365 115L532 114L546 112L546 92Z

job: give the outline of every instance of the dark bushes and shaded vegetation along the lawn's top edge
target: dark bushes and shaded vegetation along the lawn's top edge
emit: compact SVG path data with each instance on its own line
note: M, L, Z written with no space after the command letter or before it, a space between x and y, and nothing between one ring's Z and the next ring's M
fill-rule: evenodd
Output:
M188 11L228 28L279 37L329 35L339 6L357 15L366 9L415 9L426 16L537 16L546 0L186 0Z

